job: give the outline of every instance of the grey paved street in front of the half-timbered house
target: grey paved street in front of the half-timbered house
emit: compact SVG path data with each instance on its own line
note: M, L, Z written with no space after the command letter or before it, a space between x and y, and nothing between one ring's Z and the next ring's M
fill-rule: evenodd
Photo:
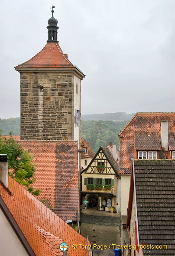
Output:
M112 244L120 244L119 214L94 209L82 210L81 222L81 235L88 236L92 246L107 246L103 250L94 248L94 256L114 256Z

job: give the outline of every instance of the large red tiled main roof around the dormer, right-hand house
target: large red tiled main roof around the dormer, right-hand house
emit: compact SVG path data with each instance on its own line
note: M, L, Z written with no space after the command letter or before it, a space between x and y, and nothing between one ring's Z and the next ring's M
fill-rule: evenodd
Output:
M135 135L139 132L157 133L161 138L161 121L169 122L169 134L175 132L175 112L170 113L139 113L129 121L120 132L119 144L119 174L131 173L131 158L137 157L135 150ZM156 140L157 141L157 140ZM157 142L155 142L157 143ZM144 149L144 148L143 148Z

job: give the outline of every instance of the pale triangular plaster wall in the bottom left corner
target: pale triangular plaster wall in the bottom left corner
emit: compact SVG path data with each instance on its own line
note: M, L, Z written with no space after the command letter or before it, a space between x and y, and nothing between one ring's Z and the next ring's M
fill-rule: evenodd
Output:
M29 256L0 209L0 255Z

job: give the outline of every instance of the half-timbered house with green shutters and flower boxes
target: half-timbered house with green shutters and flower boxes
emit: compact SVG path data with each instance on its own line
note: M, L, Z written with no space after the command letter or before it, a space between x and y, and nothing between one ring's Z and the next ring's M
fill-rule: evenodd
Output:
M88 207L102 210L103 200L106 211L117 206L118 151L110 143L100 147L93 159L81 172L81 202L89 201Z

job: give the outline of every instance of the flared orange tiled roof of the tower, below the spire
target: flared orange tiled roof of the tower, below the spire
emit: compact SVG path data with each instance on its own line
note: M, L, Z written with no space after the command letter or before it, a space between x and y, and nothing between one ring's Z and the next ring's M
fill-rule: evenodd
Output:
M75 67L63 54L58 43L49 42L29 61L18 65L19 67Z

